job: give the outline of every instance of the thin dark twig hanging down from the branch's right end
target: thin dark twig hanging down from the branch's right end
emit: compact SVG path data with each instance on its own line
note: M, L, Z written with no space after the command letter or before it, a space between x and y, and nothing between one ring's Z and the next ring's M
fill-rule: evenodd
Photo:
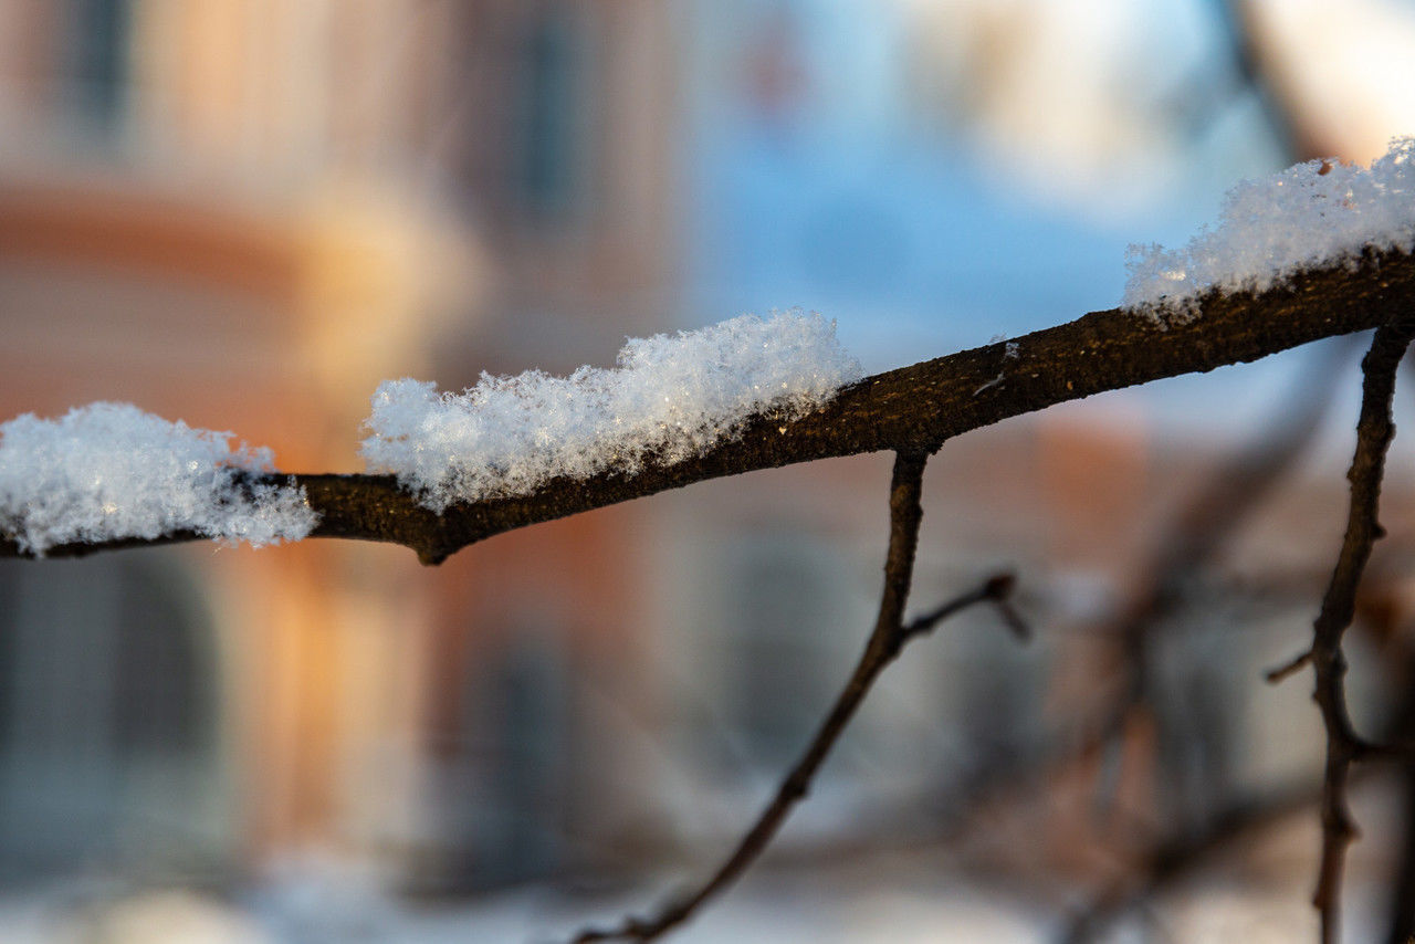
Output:
M1356 614L1356 590L1371 549L1384 535L1377 515L1385 453L1395 437L1391 401L1397 368L1412 337L1415 318L1411 317L1381 327L1361 361L1361 416L1356 426L1356 454L1347 473L1351 501L1346 538L1312 630L1309 661L1316 674L1313 699L1322 710L1327 746L1322 778L1322 865L1312 894L1322 917L1323 944L1334 944L1340 938L1341 872L1346 849L1357 835L1347 798L1351 764L1371 753L1367 742L1357 736L1347 709L1341 637Z

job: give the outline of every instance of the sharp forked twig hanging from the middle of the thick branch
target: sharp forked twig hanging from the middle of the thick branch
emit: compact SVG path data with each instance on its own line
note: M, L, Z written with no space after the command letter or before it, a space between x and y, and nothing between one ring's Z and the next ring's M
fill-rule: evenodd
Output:
M914 553L918 548L918 525L924 514L920 505L920 494L923 491L924 466L927 461L927 456L911 453L899 453L894 459L894 477L890 484L890 539L884 560L884 590L880 596L880 609L874 620L874 630L870 633L870 638L860 654L859 662L855 665L855 671L836 696L815 737L811 739L805 753L801 754L801 759L787 773L766 810L761 811L751 828L747 829L733 853L696 890L671 902L651 917L631 916L624 919L616 928L584 930L574 938L576 944L586 944L589 941L651 941L691 919L705 902L730 886L763 853L787 817L791 815L791 811L805 798L816 771L825 763L831 749L835 747L836 740L845 732L845 727L855 716L865 696L869 695L880 672L899 657L910 640L928 633L941 620L978 603L995 603L999 607L1005 607L1015 583L1010 575L989 577L978 589L945 603L938 610L918 620L904 624L904 606L908 601L908 589L914 573ZM1007 611L1006 609L1003 610L1003 613ZM1006 618L1009 618L1010 624L1016 618L1016 614Z

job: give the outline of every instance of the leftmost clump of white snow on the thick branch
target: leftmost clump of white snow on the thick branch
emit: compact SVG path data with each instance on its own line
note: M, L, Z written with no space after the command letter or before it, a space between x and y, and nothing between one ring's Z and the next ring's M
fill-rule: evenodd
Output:
M0 532L21 551L195 531L255 546L299 541L318 515L303 488L252 483L269 449L191 429L130 403L91 403L62 419L0 423Z

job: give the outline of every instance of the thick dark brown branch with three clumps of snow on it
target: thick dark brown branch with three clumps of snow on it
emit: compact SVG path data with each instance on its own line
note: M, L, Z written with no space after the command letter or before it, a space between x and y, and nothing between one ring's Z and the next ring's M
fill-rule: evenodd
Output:
M766 415L732 442L679 463L649 463L635 476L555 480L533 495L481 501L437 515L388 476L299 474L321 515L318 538L400 543L439 563L470 543L514 528L642 498L696 481L758 468L872 451L930 454L945 440L1010 416L1166 376L1255 361L1310 341L1374 328L1415 301L1415 259L1368 253L1358 266L1303 273L1261 294L1208 296L1203 314L1167 328L1133 314L1094 311L1007 344L962 351L889 371L845 388L799 420ZM999 379L1000 376L1000 379ZM283 474L273 478L284 480ZM48 556L192 541L62 545ZM21 556L0 538L0 556Z

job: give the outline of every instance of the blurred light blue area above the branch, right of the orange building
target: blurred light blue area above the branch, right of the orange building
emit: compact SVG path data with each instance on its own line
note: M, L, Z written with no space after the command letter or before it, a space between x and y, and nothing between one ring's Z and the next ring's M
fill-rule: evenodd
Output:
M1116 11L1101 48L1075 54L1112 57L1136 88L1197 81L1221 50L1206 7ZM1128 243L1183 242L1231 181L1283 164L1251 96L1237 96L1199 133L1182 126L1190 115L1153 119L1157 140L1114 187L1049 194L1034 170L999 166L966 123L911 98L899 6L722 3L696 17L688 323L814 309L839 318L870 367L1022 334L1112 307ZM780 102L763 103L761 85ZM1146 166L1146 150L1160 157Z

